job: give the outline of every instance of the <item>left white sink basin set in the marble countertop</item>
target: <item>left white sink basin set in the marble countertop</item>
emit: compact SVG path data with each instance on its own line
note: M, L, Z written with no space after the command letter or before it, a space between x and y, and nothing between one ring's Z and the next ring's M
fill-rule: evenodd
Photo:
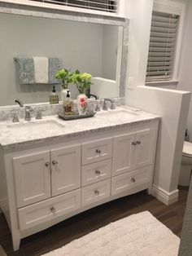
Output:
M44 130L57 131L63 129L63 125L55 120L22 121L7 125L8 129L16 129L16 132L39 132Z

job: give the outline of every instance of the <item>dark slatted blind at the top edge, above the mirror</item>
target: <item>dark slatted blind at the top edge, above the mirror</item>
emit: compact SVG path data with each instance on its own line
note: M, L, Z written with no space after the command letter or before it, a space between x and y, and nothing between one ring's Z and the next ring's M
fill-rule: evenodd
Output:
M117 11L119 0L28 0L32 2L46 2L66 7L78 7L96 11Z

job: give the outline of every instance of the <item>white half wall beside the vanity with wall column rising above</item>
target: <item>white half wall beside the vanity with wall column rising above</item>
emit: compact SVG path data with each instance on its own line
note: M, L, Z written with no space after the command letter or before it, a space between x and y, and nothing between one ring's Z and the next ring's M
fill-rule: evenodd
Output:
M126 89L126 103L162 117L155 163L154 194L165 203L170 203L177 200L190 94L144 86L152 7L152 0L131 0L128 72L129 77L133 77L134 84L133 90Z

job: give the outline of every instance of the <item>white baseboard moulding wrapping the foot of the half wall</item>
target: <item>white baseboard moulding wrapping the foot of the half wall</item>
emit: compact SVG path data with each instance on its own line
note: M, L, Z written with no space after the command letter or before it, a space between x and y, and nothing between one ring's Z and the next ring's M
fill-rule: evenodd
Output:
M171 205L172 203L178 201L179 191L178 189L168 192L163 188L156 185L152 186L151 195L155 196L159 201L162 201L165 205Z

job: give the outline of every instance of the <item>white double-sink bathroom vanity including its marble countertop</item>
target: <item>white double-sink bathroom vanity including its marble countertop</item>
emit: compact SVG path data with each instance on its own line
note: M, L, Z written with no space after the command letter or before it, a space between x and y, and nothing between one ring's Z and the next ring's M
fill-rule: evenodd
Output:
M125 107L75 121L2 121L2 212L14 250L25 236L96 205L150 193L158 126L158 116Z

